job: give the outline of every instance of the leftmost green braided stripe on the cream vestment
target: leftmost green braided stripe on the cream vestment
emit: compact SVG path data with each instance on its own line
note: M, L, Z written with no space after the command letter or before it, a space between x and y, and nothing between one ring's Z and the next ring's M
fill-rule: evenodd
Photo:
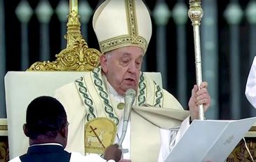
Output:
M79 87L79 94L82 97L83 102L87 105L88 114L86 115L86 120L90 121L91 119L95 119L96 116L94 114L93 100L90 99L91 97L88 93L88 90L83 84L83 77L76 79L75 83L76 86Z

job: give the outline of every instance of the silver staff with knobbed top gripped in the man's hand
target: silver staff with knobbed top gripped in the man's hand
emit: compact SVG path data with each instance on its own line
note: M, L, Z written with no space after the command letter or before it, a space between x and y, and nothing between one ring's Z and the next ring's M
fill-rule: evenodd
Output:
M202 61L201 61L201 46L200 46L200 22L203 17L203 9L201 7L201 0L189 0L189 18L191 19L194 32L194 50L196 63L196 85L200 88L202 83ZM203 104L198 106L198 119L204 120Z

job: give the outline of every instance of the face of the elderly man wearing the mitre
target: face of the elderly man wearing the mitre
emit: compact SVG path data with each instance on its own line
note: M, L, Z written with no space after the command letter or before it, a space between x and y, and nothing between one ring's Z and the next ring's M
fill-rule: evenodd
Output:
M136 46L118 48L101 56L107 81L119 95L124 95L129 88L137 90L142 58L143 50Z

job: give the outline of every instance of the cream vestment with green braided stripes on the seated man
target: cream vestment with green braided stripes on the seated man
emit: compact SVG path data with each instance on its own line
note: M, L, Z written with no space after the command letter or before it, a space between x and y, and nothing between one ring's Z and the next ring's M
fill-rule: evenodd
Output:
M93 116L107 117L117 123L116 142L119 140L123 110L116 107L123 102L123 97L117 95L109 86L100 67L95 68L93 72L85 72L85 75L76 79L75 83L59 88L55 92L55 97L64 105L70 123L67 151L79 151L84 154L84 126L87 121L93 119ZM143 104L152 105L156 108L155 111L163 109L161 107L182 110L182 106L173 95L142 73L135 105ZM142 116L143 114L138 113L136 109L131 111L131 122L123 142L123 149L128 149L129 152L124 154L123 158L131 159L133 162L163 161L170 147L174 146L175 141L177 142L189 127L189 119L170 117L166 120L168 125L161 126L161 123L151 121L151 118L155 118L154 114L147 117L146 113L146 116Z

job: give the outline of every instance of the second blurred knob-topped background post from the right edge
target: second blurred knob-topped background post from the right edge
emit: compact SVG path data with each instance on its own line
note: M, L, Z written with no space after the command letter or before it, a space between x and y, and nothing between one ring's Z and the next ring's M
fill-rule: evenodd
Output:
M229 23L230 27L230 110L231 119L241 118L241 83L239 81L241 77L241 64L240 64L240 48L239 48L239 23L243 16L241 6L237 1L231 1L226 11L224 11L224 17Z

